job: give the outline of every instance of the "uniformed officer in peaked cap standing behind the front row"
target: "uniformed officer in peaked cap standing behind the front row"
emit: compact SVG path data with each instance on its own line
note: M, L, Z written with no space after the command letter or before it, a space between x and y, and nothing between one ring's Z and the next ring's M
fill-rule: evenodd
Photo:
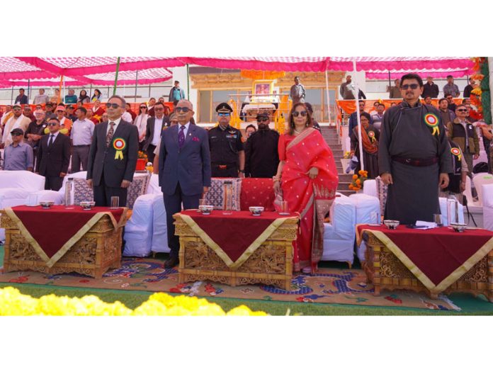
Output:
M217 105L219 125L209 130L212 177L244 177L245 152L242 133L229 126L233 109L223 102Z

